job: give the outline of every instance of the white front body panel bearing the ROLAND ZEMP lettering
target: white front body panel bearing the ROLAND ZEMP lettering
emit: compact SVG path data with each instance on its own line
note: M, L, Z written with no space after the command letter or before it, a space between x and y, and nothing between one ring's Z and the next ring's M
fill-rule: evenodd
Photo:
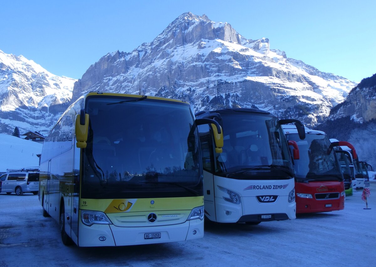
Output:
M287 214L289 219L296 218L295 200L291 203L288 202L288 194L291 190L294 189L294 179L237 180L220 176L214 176L214 194L211 193L211 198L209 200L212 201L211 199L214 198L214 215L214 207L211 204L211 202L208 202L207 200L207 190L209 189L205 187L205 185L208 184L205 183L205 178L207 178L209 175L213 176L211 173L208 173L204 170L204 208L206 217L208 217L212 221L217 221L220 223L236 223L240 220L242 216L261 214ZM240 203L235 204L224 200L223 197L228 198L229 195L220 190L218 186L231 190L234 193L237 193L241 199ZM276 201L274 201L273 203L260 203L256 198L256 196L268 195L278 197ZM208 209L207 206L209 206Z

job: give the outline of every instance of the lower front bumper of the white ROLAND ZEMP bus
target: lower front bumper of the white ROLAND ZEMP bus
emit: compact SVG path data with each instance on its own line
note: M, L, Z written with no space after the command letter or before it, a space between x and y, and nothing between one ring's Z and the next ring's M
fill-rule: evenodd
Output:
M279 196L274 203L259 203L256 197L241 197L240 204L215 198L217 222L236 223L247 221L274 221L295 219L295 202L288 202L287 196ZM261 215L271 215L261 216Z

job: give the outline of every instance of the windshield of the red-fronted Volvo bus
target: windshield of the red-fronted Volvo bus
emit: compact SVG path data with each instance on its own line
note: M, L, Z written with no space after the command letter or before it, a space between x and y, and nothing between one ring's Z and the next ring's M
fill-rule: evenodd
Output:
M341 167L329 138L324 134L307 133L304 140L297 133L287 134L296 141L300 158L294 160L297 181L343 181Z

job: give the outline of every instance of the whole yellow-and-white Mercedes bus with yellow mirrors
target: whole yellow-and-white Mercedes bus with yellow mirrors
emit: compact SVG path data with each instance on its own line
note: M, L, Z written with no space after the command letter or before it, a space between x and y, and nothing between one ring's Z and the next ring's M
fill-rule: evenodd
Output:
M124 246L203 237L202 160L189 103L91 92L44 141L39 200L64 244Z

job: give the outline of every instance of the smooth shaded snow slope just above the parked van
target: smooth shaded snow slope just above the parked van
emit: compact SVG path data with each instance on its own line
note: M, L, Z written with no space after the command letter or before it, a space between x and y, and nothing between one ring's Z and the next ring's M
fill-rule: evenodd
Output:
M0 171L39 165L42 144L0 133Z

